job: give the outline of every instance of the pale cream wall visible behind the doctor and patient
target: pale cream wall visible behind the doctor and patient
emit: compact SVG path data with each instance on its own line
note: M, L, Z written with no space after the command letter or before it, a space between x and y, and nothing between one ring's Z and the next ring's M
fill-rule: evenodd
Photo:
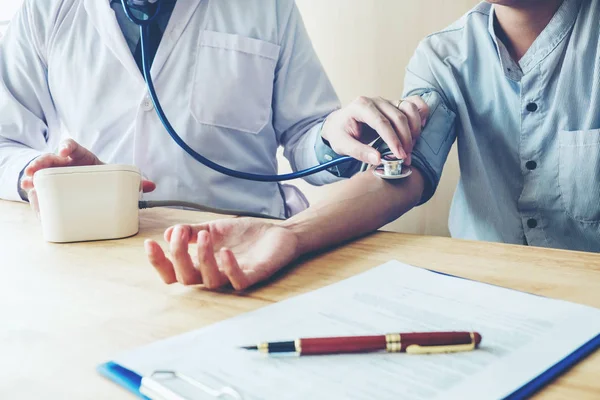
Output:
M45 1L45 0L39 0ZM103 1L103 0L97 0ZM217 0L218 1L218 0ZM313 44L342 104L359 95L398 99L404 68L419 41L458 19L477 0L296 0ZM20 0L0 0L0 21L9 20ZM5 27L0 23L0 36ZM289 164L280 156L283 171ZM385 229L448 235L450 200L458 180L456 152L448 159L433 199ZM327 186L293 182L312 203L330 194Z

